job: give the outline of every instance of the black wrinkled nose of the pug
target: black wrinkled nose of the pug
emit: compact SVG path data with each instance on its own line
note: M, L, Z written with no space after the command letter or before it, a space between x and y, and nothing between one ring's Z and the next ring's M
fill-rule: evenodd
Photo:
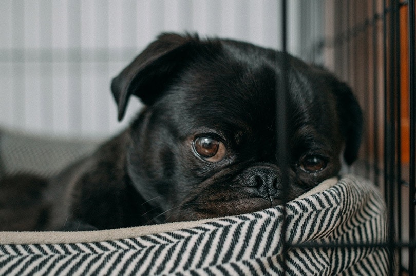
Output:
M275 167L267 165L250 167L241 176L243 183L256 188L257 195L262 198L278 198L281 193L281 173Z

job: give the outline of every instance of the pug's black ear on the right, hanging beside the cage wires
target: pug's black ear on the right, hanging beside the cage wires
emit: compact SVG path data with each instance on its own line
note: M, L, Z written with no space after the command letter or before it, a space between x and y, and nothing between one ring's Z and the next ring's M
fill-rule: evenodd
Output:
M360 149L363 115L360 105L347 84L333 78L332 89L337 100L339 125L345 138L344 159L348 165L351 165L357 159L358 149Z

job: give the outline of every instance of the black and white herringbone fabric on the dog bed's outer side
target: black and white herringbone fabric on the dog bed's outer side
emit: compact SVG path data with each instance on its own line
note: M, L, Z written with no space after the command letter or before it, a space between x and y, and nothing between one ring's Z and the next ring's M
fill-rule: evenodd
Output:
M386 275L387 248L366 246L386 241L379 191L347 175L286 206L192 228L88 243L3 241L0 275Z

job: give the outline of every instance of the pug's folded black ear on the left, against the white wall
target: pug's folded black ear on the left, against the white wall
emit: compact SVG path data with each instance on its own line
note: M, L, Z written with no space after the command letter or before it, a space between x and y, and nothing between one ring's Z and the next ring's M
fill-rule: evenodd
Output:
M146 105L155 101L167 78L183 64L187 48L198 41L197 36L162 34L112 80L119 121L123 119L130 95L140 97Z

